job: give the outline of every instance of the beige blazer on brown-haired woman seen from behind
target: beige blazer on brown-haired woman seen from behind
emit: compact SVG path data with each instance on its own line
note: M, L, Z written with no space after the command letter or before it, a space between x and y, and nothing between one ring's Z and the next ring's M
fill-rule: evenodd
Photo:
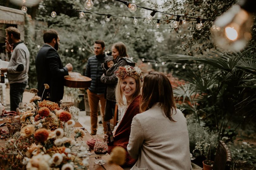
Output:
M191 169L186 118L176 110L172 116L176 122L165 116L158 103L133 117L127 151L138 160L132 170Z

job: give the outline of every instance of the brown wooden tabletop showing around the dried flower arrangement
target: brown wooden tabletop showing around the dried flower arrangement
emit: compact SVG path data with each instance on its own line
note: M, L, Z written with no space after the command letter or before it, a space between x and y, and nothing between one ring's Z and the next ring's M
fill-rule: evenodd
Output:
M5 119L5 118L3 118ZM3 121L0 121L0 124L1 123L4 123ZM76 140L83 140L83 141L87 141L87 140L90 140L92 139L93 137L91 136L91 134L85 129L82 127L82 125L79 123L79 122L76 122L75 124L75 127L81 127L86 133L85 133L85 136L83 138L79 138L79 139L76 139ZM8 128L7 126L2 126L0 127L6 131L8 131ZM0 139L0 147L7 144L8 143L8 140L7 139ZM90 153L94 153L93 150L90 151ZM116 164L109 164L109 163L106 163L104 165L97 165L94 163L95 159L96 159L97 155L90 155L89 156L89 170L123 170L122 167L120 167L119 165L116 165ZM106 156L102 156L102 159L105 159L106 161L108 161L110 159L110 155L107 154Z

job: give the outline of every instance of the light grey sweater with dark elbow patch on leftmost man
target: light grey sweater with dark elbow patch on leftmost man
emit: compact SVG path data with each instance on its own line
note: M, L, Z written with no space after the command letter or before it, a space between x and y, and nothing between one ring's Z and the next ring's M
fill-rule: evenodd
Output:
M14 44L15 45L15 44ZM8 54L7 77L10 84L25 82L28 79L29 51L24 43L17 43L13 52Z

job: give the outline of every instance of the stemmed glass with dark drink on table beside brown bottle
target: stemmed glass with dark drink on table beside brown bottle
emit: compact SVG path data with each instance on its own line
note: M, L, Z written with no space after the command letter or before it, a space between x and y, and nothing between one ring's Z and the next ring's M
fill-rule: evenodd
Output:
M107 147L107 135L106 134L97 134L96 135L96 142L94 145L94 153L99 156L96 161L94 161L95 164L103 165L107 163L106 160L101 159L101 156L106 155L108 147Z

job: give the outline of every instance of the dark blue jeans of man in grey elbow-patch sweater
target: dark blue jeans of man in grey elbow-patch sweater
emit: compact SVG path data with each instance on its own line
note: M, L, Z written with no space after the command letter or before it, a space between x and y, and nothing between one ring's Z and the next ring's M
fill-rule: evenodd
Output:
M22 102L23 92L27 86L27 81L10 84L10 110L16 111L19 103Z

